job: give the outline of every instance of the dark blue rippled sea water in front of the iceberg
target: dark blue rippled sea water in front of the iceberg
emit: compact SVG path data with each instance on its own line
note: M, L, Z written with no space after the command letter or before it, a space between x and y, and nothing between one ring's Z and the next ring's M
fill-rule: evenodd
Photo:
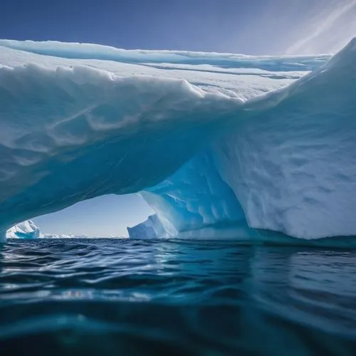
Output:
M356 355L356 251L10 242L0 355Z

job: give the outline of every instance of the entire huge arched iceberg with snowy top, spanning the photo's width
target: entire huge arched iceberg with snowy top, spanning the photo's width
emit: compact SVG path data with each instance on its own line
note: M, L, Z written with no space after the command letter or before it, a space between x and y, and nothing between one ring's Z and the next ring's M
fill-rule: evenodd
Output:
M139 192L156 215L130 236L355 235L355 77L356 40L333 57L1 40L0 231Z

